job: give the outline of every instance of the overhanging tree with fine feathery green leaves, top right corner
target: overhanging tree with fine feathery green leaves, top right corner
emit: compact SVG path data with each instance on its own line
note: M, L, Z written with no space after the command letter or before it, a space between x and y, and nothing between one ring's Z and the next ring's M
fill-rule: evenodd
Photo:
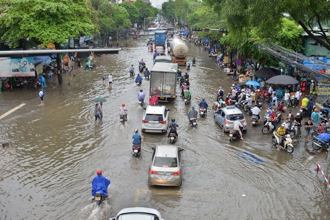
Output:
M328 0L206 0L225 19L230 31L240 34L255 28L262 37L269 37L283 26L289 16L315 41L330 50L330 38L323 25L330 21ZM320 31L313 30L319 26ZM320 34L323 39L315 34Z

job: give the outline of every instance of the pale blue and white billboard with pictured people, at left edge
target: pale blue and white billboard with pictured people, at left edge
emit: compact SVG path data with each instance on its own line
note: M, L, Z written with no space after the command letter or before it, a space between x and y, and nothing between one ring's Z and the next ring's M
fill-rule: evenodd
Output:
M0 77L34 76L34 58L0 57Z

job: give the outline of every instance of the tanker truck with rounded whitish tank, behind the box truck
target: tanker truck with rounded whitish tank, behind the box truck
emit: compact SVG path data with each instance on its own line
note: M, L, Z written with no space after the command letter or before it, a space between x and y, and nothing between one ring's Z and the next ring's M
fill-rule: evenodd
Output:
M184 44L183 40L173 39L170 43L170 55L174 63L178 65L185 65L185 57L188 55L189 49L187 45Z

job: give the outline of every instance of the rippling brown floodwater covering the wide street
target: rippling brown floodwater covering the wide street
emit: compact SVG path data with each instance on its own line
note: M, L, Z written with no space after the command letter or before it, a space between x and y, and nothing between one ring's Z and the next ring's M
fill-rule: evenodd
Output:
M141 155L132 156L131 136L141 127L143 110L128 68L137 68L141 58L151 68L152 52L143 37L127 42L119 54L96 58L96 69L75 69L70 85L67 74L62 85L56 76L46 79L44 106L32 85L0 93L0 115L26 103L0 119L10 141L0 149L0 219L108 219L133 206L156 208L164 219L329 219L329 190L316 174L323 151L309 160L305 148L311 143L297 144L292 154L277 151L261 126L248 126L244 140L229 142L211 108L192 129L185 116L191 105L179 96L163 104L179 125L174 144L185 149L182 184L148 185L149 147L166 144L166 134L143 133ZM196 57L189 70L192 104L205 97L211 106L218 86L228 91L232 81L201 47L188 46L189 58ZM113 73L111 90L102 85L103 71ZM147 81L141 88L148 95ZM91 100L98 96L107 101L103 121L94 124ZM124 125L118 117L122 102L128 109ZM265 162L237 154L245 151ZM99 208L90 194L97 169L111 180L109 197Z

